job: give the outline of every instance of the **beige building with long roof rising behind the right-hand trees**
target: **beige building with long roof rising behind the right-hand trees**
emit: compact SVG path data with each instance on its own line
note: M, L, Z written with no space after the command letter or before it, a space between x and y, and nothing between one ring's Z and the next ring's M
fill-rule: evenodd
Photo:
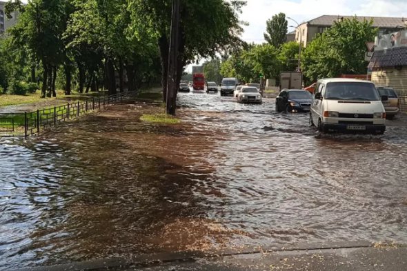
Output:
M334 21L340 21L345 18L353 18L353 16L323 15L301 23L299 27L297 27L295 40L298 43L301 41L303 46L306 47L313 39L315 39L315 37L317 37L317 34L323 33L330 28ZM357 17L357 19L359 21L373 19L373 27L379 28L379 36L405 28L404 19L398 17Z

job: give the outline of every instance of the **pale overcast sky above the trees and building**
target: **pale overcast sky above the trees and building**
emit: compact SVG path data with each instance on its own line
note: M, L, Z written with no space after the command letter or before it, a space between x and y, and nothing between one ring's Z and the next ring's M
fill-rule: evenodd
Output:
M244 28L243 39L262 43L266 20L279 12L301 23L321 15L407 17L407 6L406 0L247 0L241 20L247 21L249 26ZM288 21L288 26L295 23Z

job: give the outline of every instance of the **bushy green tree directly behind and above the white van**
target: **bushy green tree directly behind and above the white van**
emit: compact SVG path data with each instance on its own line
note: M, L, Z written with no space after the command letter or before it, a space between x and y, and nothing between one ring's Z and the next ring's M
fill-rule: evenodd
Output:
M335 22L319 35L301 55L302 69L309 81L340 74L363 74L366 41L373 41L377 28L373 21L358 21L356 17Z

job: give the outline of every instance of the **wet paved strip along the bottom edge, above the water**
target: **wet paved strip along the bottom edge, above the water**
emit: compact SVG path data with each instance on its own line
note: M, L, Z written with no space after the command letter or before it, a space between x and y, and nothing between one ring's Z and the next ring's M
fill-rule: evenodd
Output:
M402 271L407 270L407 246L366 242L299 245L293 248L272 247L224 256L203 252L152 254L124 259L108 259L30 268L24 271L54 270L212 270L212 271Z

